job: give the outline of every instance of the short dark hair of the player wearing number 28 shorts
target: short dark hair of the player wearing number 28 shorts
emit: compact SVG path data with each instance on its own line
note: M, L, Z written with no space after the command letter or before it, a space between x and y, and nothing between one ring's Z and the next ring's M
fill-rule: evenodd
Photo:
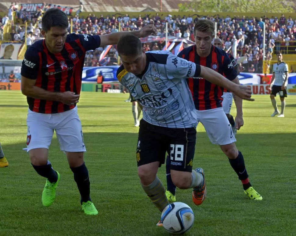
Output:
M117 43L117 52L119 55L138 55L142 50L140 39L132 34L122 36Z

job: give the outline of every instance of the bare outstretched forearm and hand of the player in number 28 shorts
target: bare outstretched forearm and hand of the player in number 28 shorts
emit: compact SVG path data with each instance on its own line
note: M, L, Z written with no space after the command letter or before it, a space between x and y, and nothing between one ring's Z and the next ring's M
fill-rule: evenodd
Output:
M224 76L222 76L218 72L215 72L211 68L202 65L196 66L200 66L200 76L204 79L232 91L236 96L244 100L254 101L254 99L251 98L252 91L250 87L233 83L232 81L226 79Z

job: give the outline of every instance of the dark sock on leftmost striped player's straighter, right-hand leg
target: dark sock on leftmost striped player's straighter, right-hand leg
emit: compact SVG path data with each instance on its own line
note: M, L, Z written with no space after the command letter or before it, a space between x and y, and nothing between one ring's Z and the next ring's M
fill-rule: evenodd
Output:
M83 163L81 166L71 168L71 171L74 173L74 180L81 195L80 203L82 204L82 202L86 203L87 201L92 201L89 196L90 182L85 163Z

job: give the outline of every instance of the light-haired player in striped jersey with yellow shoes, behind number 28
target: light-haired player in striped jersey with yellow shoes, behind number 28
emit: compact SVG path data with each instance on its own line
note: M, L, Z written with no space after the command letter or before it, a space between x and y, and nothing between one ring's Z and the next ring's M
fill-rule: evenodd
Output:
M215 25L207 19L198 20L194 26L195 45L183 49L179 57L199 65L209 67L222 74L227 79L239 84L237 72L229 56L222 49L211 44L214 36ZM197 123L201 122L213 144L218 144L229 159L229 163L238 175L244 188L244 193L251 199L262 200L262 196L254 190L249 182L247 170L242 153L237 150L236 139L229 121L222 108L223 88L210 83L202 77L189 78L190 88L195 108L197 110ZM242 100L233 94L237 107L242 107ZM236 125L244 124L242 112L236 116ZM167 157L167 198L175 200L175 185L171 181L170 162ZM203 197L203 196L200 196Z

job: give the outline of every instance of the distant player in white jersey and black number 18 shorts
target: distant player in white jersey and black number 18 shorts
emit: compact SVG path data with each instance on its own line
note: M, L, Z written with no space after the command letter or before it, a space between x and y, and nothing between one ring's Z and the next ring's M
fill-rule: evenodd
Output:
M270 99L271 103L273 104L274 112L271 115L274 117L275 115L278 115L277 117L285 117L284 111L286 106L285 97L287 97L287 83L288 83L288 75L289 75L289 69L287 63L283 62L283 55L281 52L278 52L276 54L277 62L273 65L273 77L271 78L271 82L269 85L270 93ZM273 83L274 82L274 83ZM281 113L279 112L276 100L274 97L276 97L276 94L280 94L280 101L281 101Z

